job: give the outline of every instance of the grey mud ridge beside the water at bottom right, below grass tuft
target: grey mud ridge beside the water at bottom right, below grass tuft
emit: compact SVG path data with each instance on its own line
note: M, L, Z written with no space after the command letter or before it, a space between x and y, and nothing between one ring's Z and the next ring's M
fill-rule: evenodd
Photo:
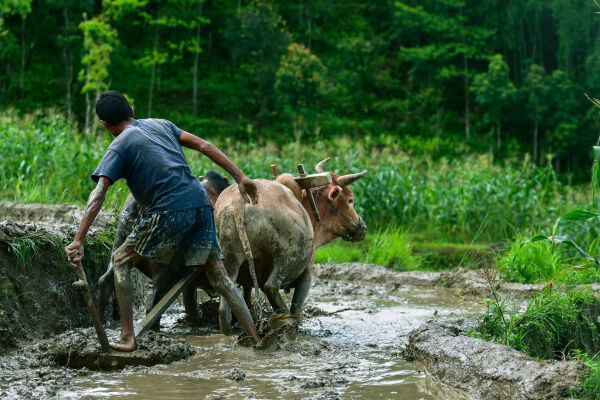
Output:
M536 361L515 349L467 337L473 323L429 323L411 332L408 354L428 374L473 399L563 399L589 371L578 361Z

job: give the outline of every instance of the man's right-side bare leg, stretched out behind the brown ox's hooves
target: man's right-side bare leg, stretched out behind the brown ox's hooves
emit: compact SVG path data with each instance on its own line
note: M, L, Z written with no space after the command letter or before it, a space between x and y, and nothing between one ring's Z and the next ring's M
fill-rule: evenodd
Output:
M254 326L254 321L252 321L252 315L250 315L250 311L235 284L231 281L229 275L227 275L223 261L209 259L204 265L204 271L216 291L227 300L231 311L244 328L246 335L251 336L259 342L260 337Z

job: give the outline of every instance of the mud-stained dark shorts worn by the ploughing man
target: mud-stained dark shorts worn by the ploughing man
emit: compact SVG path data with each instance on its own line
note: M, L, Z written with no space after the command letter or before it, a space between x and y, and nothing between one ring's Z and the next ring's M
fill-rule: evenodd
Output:
M204 265L206 260L223 259L210 206L166 214L142 216L127 236L125 245L159 263L168 263L183 247L186 265Z

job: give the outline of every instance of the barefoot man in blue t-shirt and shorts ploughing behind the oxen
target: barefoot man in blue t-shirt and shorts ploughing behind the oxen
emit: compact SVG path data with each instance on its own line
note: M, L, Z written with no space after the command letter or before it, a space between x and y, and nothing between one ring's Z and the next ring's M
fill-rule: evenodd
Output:
M96 114L115 139L92 174L97 186L90 194L73 242L65 247L69 261L75 264L83 258L87 232L114 182L125 178L144 209L139 225L112 255L122 326L119 341L111 347L132 351L136 346L131 267L143 258L167 264L179 246L185 249L186 265L204 265L211 284L225 297L246 334L258 341L250 312L221 261L212 205L192 174L181 146L200 151L229 172L242 197L254 204L258 196L255 183L209 142L166 120L134 119L133 108L119 92L102 93Z

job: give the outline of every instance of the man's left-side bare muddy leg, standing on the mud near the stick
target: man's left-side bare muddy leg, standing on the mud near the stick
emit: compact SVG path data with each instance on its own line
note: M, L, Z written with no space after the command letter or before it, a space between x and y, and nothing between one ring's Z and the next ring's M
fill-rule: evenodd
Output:
M121 337L110 347L120 351L135 350L135 333L133 330L133 289L131 284L131 268L142 256L121 245L113 253L113 273L115 276L115 292L121 313Z

